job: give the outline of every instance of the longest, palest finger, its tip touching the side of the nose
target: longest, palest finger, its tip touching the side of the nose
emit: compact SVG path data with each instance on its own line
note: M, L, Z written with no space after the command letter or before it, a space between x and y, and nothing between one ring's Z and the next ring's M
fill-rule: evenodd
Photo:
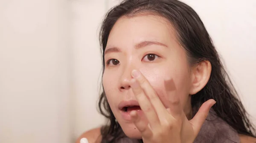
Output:
M145 95L153 105L159 118L164 118L168 114L166 107L164 107L162 101L158 97L153 87L149 84L148 80L138 70L132 71L132 76L140 83Z

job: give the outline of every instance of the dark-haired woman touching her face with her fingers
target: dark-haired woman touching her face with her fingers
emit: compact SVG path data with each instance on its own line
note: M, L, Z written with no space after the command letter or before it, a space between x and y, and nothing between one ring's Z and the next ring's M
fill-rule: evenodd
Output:
M106 14L100 42L99 110L110 124L85 132L78 143L82 137L89 143L256 142L191 7L177 0L125 0Z

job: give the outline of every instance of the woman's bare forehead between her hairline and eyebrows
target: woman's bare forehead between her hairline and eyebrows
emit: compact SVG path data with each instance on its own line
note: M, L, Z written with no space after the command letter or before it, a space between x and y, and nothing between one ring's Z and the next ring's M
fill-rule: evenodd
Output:
M123 16L113 26L108 37L107 47L132 46L145 40L166 44L176 41L174 28L168 20L153 14Z

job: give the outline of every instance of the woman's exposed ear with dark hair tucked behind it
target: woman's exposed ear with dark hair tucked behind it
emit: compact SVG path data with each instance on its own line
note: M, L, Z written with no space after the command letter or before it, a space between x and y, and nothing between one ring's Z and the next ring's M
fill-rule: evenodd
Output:
M198 93L204 88L209 81L212 72L212 65L209 61L202 61L192 67L191 70L191 86L189 94L193 95Z

